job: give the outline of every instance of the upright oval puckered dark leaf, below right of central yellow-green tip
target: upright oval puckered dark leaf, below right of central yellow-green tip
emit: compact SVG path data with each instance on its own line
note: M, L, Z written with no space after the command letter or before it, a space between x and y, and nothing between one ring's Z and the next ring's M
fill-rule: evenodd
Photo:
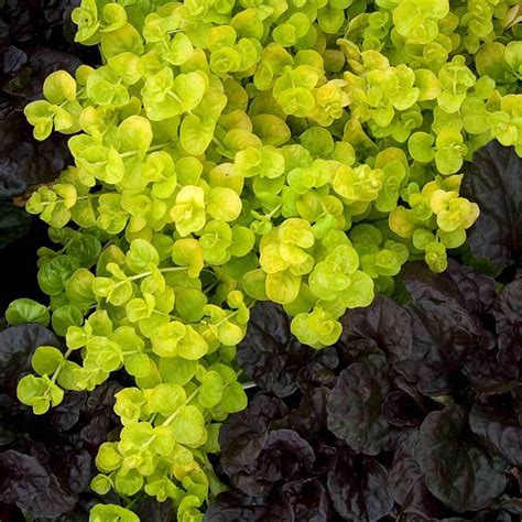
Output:
M328 398L328 428L355 452L367 455L390 449L392 431L382 415L390 391L390 367L384 357L369 356L339 376Z

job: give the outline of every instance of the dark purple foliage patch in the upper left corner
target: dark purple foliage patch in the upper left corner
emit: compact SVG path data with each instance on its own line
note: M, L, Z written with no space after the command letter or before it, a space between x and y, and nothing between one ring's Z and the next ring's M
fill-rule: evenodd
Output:
M73 42L70 12L78 3L0 2L0 248L26 232L30 225L12 198L55 180L70 162L64 137L34 140L23 108L41 98L48 74L57 69L74 73L83 61L96 63L96 52Z

